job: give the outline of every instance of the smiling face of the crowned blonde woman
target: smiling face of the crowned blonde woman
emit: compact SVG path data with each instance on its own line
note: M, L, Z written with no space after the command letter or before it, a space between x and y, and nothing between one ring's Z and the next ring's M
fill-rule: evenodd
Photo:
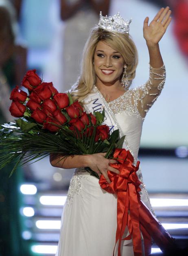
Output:
M120 83L125 61L120 53L99 41L94 53L96 84L114 85Z

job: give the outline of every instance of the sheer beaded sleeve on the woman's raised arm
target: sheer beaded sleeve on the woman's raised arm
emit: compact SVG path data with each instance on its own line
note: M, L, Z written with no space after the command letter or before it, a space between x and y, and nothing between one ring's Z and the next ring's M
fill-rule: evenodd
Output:
M149 67L149 80L142 86L132 90L132 102L137 106L142 118L146 116L150 107L160 95L166 79L166 70L163 65L161 68Z

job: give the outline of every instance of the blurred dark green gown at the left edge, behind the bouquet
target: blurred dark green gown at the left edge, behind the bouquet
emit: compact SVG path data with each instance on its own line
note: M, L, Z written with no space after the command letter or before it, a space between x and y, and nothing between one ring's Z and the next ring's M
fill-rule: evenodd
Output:
M11 66L10 60L3 71L13 88L14 77ZM0 123L5 122L0 109ZM23 196L19 190L24 182L23 169L17 168L9 178L13 166L14 164L9 164L0 171L0 256L29 256L28 241L22 238L24 219L20 214Z

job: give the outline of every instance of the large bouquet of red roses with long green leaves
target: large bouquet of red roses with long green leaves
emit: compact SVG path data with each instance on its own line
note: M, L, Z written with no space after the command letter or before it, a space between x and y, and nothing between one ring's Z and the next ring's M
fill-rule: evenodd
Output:
M16 86L10 99L9 111L18 119L0 126L0 168L11 162L15 166L40 160L50 153L82 155L107 152L112 156L115 147L122 147L119 131L111 135L102 125L103 113L86 113L70 93L59 93L52 83L43 82L36 70L29 70L22 86ZM87 168L92 175L96 173Z

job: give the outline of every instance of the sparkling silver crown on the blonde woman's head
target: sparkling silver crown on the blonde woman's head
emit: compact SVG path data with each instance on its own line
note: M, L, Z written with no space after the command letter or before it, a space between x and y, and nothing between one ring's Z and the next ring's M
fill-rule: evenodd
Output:
M129 33L129 24L131 23L131 20L129 22L127 20L124 20L120 13L113 15L113 16L103 16L102 12L100 12L100 19L98 23L99 28L103 28L109 32L118 32L118 33Z

